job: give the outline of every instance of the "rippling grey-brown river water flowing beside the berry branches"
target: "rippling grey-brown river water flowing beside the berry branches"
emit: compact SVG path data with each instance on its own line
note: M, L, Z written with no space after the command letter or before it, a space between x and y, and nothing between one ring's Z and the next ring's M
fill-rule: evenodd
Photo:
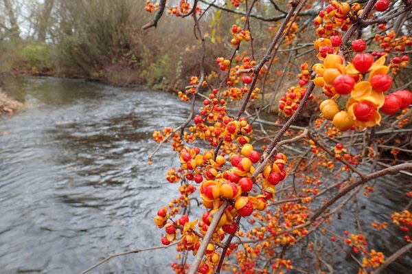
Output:
M147 165L152 132L181 124L188 104L82 80L3 82L27 108L0 119L0 273L80 273L108 254L161 244L152 217L174 198L165 174L179 163L164 146ZM405 244L388 216L408 203L408 190L409 178L387 176L360 198L369 242L387 256ZM351 216L346 209L334 231L343 233ZM372 220L389 229L370 229ZM126 255L91 273L171 273L175 256L174 247ZM409 253L386 273L408 273L411 262ZM335 263L337 273L357 269L352 259Z

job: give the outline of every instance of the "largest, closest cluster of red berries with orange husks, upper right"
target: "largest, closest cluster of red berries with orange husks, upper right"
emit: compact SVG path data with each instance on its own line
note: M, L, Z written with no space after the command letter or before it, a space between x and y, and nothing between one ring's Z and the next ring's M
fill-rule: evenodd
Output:
M319 50L323 64L314 65L314 70L317 72L314 84L323 87L325 95L332 98L324 100L319 109L325 119L333 121L336 128L347 130L354 126L358 128L376 126L380 123L380 112L396 114L411 103L409 91L396 91L384 95L393 82L391 76L387 74L389 67L385 66L384 56L375 61L371 54L356 54L352 63L345 66L343 56L329 53L326 56L322 55L321 45L325 47L331 44L332 41L327 38L319 41L318 46L315 42L315 48ZM361 39L353 41L352 49L355 52L363 51L365 41ZM367 73L369 73L368 80L362 80ZM350 98L346 102L346 111L339 111L336 99L348 94Z

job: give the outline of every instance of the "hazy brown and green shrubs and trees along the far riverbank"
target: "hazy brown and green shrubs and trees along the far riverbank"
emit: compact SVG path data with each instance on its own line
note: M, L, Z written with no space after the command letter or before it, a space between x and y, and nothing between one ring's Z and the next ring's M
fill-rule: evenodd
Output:
M176 89L181 76L198 69L192 19L167 16L167 23L144 31L141 26L153 16L144 5L143 0L0 0L0 71Z

